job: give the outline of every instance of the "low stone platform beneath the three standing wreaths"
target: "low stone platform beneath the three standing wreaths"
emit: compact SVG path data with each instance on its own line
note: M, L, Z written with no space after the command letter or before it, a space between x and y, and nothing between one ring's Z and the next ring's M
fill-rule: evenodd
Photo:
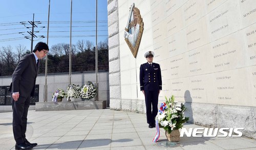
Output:
M35 111L98 110L106 108L103 101L36 102Z

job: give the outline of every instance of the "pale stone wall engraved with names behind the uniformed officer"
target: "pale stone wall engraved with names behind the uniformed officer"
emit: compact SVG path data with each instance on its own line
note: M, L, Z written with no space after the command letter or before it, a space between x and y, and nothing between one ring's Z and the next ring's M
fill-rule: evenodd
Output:
M144 22L137 58L123 37L132 3ZM175 95L190 107L191 122L241 126L256 138L255 18L253 0L118 1L121 108L144 112L139 67L146 62L144 53L153 50L162 70L159 103ZM225 113L235 113L240 121ZM250 123L239 123L246 120Z

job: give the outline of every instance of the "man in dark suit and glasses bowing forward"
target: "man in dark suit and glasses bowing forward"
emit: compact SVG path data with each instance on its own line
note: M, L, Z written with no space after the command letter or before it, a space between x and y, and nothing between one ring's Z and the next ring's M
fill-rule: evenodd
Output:
M16 141L15 149L31 149L37 143L26 139L27 115L30 97L34 95L35 81L39 69L39 59L44 58L49 51L48 45L38 42L33 53L22 57L12 74L10 85L13 110L13 135Z

